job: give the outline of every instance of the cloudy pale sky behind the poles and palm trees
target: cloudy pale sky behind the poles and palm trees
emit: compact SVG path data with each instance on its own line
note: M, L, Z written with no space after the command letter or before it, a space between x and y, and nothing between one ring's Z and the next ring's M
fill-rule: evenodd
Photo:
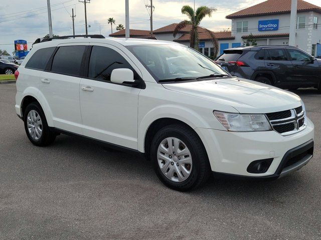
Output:
M260 3L264 0L196 0L196 7L206 5L217 8L213 16L203 19L201 25L211 30L219 31L230 28L231 20L226 15ZM321 5L321 0L306 0ZM149 15L145 4L149 0L129 0L130 28L149 29ZM186 16L182 15L183 5L194 4L193 0L153 0L153 29L173 22L180 22ZM78 0L51 0L53 32L57 35L72 34L72 8L75 9L75 33L85 33L84 4ZM107 18L113 17L116 24L125 25L125 0L91 0L87 4L87 21L91 27L89 34L99 33L107 36L111 33ZM116 31L113 27L113 31ZM25 0L13 4L12 0L0 0L0 49L9 53L14 51L14 40L25 39L31 43L38 37L49 32L47 0Z

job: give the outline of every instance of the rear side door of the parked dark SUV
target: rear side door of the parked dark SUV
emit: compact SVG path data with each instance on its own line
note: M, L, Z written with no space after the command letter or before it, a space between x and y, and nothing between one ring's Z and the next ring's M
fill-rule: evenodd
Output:
M275 85L285 86L292 82L293 66L285 48L265 48L264 64L267 70L273 72Z

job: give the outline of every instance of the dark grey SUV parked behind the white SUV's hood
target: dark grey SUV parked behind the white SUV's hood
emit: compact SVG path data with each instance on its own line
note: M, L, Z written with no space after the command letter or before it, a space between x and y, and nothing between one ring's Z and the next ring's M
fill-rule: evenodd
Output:
M292 46L241 46L225 49L216 62L232 75L280 88L321 91L321 60Z

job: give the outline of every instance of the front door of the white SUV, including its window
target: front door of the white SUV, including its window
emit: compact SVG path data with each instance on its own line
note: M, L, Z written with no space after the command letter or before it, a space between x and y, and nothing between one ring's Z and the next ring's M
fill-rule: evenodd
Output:
M110 81L115 68L129 68L135 79L139 69L119 48L91 44L87 77L80 82L80 107L84 135L137 149L137 111L140 88ZM139 76L139 75L140 76Z

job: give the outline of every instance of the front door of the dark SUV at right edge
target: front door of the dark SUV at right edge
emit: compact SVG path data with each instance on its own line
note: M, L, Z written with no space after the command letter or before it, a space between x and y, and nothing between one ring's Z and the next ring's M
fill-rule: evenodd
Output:
M287 48L293 64L293 83L297 86L318 86L321 68L309 54L295 48Z

